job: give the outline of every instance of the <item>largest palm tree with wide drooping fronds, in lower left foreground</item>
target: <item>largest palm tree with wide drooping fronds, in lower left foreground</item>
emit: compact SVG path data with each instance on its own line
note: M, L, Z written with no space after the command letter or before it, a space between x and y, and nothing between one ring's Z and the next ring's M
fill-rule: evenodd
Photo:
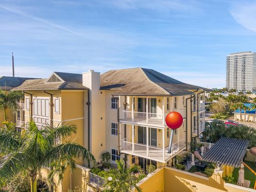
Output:
M31 121L21 137L15 131L14 124L5 123L5 128L0 130L0 151L3 155L0 158L0 178L6 182L20 172L28 171L31 192L36 192L36 176L43 167L50 167L60 159L65 162L67 158L94 162L93 155L86 148L65 141L75 133L76 126L73 124L37 127Z

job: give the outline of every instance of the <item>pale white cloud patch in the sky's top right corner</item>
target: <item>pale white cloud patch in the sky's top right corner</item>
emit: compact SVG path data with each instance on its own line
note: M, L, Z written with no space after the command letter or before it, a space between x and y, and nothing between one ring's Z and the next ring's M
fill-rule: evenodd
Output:
M234 2L229 12L237 23L239 23L246 29L256 32L255 1Z

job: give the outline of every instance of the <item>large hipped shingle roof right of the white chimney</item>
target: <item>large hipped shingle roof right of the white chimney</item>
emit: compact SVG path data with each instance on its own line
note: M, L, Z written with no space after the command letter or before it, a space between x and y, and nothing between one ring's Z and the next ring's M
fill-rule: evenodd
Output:
M132 68L110 70L101 75L101 90L116 90L126 95L183 95L204 87L182 83L153 69Z

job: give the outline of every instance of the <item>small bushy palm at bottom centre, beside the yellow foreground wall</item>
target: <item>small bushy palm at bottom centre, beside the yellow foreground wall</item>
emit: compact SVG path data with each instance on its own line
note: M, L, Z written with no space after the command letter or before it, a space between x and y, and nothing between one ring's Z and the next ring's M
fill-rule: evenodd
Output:
M133 165L131 168L125 168L124 160L120 159L116 161L117 169L110 169L108 172L108 179L104 185L105 191L115 191L115 192L131 192L134 189L142 192L142 189L136 185L137 177L133 172L140 171L139 165Z

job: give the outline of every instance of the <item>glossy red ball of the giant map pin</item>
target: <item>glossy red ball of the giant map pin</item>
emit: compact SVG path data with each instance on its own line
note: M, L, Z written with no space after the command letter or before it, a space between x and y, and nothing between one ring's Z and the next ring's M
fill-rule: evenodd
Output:
M183 117L180 113L172 111L166 115L165 123L170 129L178 129L183 123Z

